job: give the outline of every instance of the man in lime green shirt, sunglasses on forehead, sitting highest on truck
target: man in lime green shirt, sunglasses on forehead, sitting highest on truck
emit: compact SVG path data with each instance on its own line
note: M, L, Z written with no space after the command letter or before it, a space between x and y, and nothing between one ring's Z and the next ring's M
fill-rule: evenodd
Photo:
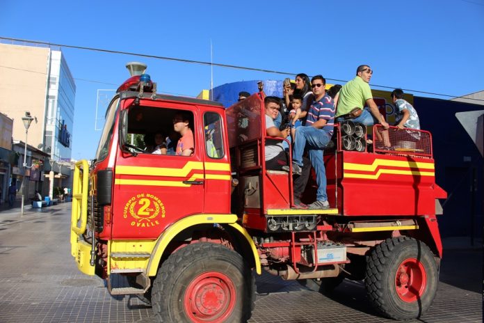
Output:
M371 75L373 75L373 70L371 70L369 65L360 65L356 69L356 77L341 88L336 111L338 122L344 121L345 117L350 116L351 113L352 117L355 116L352 119L355 123L362 123L364 125L380 123L385 129L388 129L388 123L380 114L375 101L373 101L373 95L371 94L369 85ZM370 108L371 113L363 109L365 103ZM352 112L355 108L360 109L361 114L355 113L355 111Z

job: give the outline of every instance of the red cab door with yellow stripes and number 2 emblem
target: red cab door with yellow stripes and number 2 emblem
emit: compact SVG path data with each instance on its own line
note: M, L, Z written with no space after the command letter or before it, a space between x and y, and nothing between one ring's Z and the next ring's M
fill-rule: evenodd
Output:
M127 143L136 149L120 148L116 159L114 239L155 239L171 223L204 211L204 134L200 112L193 105L179 102L149 104L130 109ZM172 120L179 111L190 116L195 143L193 154L152 153L143 141L158 132L168 137L173 129Z

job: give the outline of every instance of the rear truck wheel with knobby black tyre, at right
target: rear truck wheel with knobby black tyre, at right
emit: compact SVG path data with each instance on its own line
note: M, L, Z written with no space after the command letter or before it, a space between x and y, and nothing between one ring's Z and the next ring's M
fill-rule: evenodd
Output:
M366 264L366 292L373 306L394 320L423 315L437 292L437 263L424 242L410 237L386 239Z

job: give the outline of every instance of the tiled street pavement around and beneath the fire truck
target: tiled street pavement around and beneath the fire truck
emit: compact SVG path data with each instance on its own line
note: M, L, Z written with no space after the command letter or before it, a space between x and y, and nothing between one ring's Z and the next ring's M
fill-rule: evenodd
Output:
M69 225L70 203L36 211L28 206L23 218L18 208L0 212L0 322L154 322L150 306L111 297L100 278L77 271ZM459 244L444 249L433 306L410 322L482 322L482 249ZM373 311L361 283L345 281L327 298L264 274L257 278L250 322L394 321Z

